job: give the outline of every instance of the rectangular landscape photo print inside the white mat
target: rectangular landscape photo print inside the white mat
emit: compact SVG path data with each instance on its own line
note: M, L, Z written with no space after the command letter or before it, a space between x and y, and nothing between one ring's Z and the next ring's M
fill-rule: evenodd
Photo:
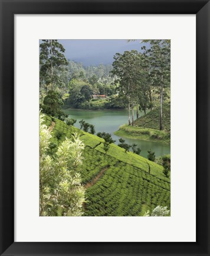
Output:
M170 216L170 40L39 44L40 216Z

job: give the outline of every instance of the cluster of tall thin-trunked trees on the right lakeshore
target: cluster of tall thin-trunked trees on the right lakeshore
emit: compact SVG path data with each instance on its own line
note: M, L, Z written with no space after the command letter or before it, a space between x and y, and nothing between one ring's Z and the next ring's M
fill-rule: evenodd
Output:
M113 75L117 76L120 95L127 101L128 124L134 125L134 106L136 117L139 109L152 110L155 93L159 94L159 130L163 130L163 98L170 87L170 40L143 40L149 47L142 47L142 53L131 50L114 55ZM153 95L152 95L153 94ZM153 102L154 100L154 102ZM132 117L130 116L132 111Z

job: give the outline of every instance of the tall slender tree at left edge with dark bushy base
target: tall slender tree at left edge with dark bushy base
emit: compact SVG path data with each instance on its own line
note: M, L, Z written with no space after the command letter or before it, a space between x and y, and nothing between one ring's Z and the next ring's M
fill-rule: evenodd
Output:
M42 42L40 44L40 95L43 98L41 108L44 113L64 119L65 114L61 111L63 100L58 93L58 88L64 85L62 74L68 64L64 56L65 49L58 40L42 40ZM47 92L45 97L42 97L42 85Z

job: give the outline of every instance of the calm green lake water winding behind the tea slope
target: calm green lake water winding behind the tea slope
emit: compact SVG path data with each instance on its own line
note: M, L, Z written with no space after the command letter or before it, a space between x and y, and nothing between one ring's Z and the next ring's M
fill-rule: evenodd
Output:
M119 126L122 124L128 123L128 112L127 110L64 110L65 114L72 119L77 119L77 123L74 126L80 128L78 121L81 119L86 120L87 123L94 124L96 133L97 132L107 132L111 133L116 144L119 143L119 136L113 134L119 129ZM140 113L140 116L143 115L143 112ZM136 143L141 149L142 152L140 155L146 157L147 151L151 149L155 152L156 156L161 156L170 153L170 146L164 145L158 142L147 142L140 139L125 139L126 143L130 145Z

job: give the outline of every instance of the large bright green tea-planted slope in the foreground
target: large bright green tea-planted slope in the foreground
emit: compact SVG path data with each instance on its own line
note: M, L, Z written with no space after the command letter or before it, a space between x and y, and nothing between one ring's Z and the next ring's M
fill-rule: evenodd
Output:
M162 166L132 152L125 153L114 144L106 154L100 137L45 118L55 135L51 148L74 132L80 133L86 145L81 169L86 187L84 216L142 216L158 205L170 209L170 179L163 174Z

